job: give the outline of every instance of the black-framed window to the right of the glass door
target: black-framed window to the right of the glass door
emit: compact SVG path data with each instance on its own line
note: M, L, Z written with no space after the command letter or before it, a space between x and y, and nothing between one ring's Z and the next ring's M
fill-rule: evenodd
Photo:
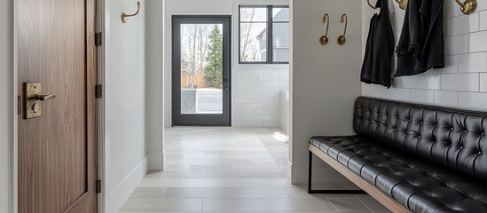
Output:
M240 5L240 64L289 63L289 7Z

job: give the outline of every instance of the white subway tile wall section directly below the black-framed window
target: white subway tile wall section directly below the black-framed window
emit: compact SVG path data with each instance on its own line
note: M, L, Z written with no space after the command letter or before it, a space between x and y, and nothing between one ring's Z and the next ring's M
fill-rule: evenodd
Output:
M232 126L279 127L280 91L289 88L289 69L240 67L232 70Z

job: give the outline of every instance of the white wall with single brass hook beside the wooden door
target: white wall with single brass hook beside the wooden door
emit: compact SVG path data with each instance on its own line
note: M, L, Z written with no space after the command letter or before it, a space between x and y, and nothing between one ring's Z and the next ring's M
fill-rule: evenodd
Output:
M145 2L106 1L106 212L118 212L147 171L145 147Z

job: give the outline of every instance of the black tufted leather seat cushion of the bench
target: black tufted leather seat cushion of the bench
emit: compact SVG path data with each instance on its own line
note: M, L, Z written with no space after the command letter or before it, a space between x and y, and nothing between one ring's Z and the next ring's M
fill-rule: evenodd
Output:
M360 136L310 143L414 212L487 212L487 185L474 177Z

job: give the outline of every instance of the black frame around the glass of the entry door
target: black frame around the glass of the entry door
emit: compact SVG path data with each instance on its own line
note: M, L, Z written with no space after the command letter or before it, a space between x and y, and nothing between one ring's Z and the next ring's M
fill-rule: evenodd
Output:
M224 96L224 106L223 106L223 111L225 112L228 112L228 114L223 114L222 117L218 117L216 114L192 114L192 115L200 115L200 116L206 116L207 118L197 118L197 119L194 119L190 122L180 122L178 124L181 124L181 125L188 125L188 126L194 126L194 125L199 125L199 126L232 126L232 15L172 15L171 16L171 23L172 23L172 26L171 26L171 29L170 29L170 35L171 35L171 40L172 40L172 44L171 44L171 59L172 59L172 63L171 63L171 76L172 76L172 81L171 81L171 102L172 102L172 110L171 110L171 116L172 116L172 126L175 126L177 125L176 123L176 120L177 120L177 113L178 114L178 117L179 118L184 118L185 116L191 116L191 115L186 115L186 114L181 114L180 113L180 110L181 110L181 95L179 96L176 96L176 92L180 92L181 91L181 83L180 83L180 79L177 78L177 76L180 76L180 75L174 75L174 70L175 69L181 69L181 66L179 65L180 61L179 59L181 58L180 56L176 57L174 52L175 51L181 51L181 48L178 47L176 45L176 37L174 36L174 29L177 27L177 22L175 19L198 19L199 21L197 22L201 22L201 23L205 23L206 21L208 20L212 20L212 19L227 19L228 22L226 22L227 20L224 20L224 23L223 24L228 24L227 26L227 30L225 31L225 29L222 30L222 35L223 37L225 37L225 34L227 36L227 43L226 43L226 46L225 46L225 43L224 43L224 70L223 72L225 72L225 69L226 72L227 72L227 79L228 79L228 94L227 94L227 98L225 99L225 96ZM183 23L181 23L183 24ZM181 40L181 36L178 36L179 40ZM226 50L225 50L226 49ZM225 52L227 52L227 54L225 54ZM227 64L225 64L225 62L227 62ZM225 92L225 91L224 91ZM208 121L208 118L215 118L215 120L209 120ZM221 119L218 120L217 118Z

